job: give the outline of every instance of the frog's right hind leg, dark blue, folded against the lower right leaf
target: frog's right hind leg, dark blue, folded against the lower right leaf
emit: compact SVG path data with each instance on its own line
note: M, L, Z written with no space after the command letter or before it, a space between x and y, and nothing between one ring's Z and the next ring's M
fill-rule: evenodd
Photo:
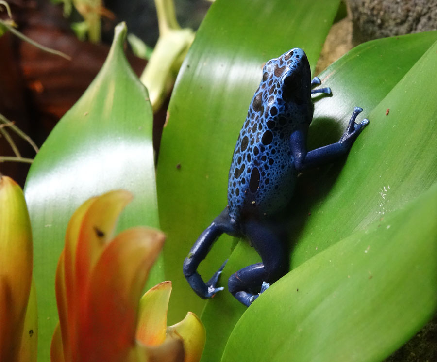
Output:
M252 264L231 275L228 288L238 301L250 306L269 283L274 283L286 272L286 250L279 233L267 224L249 220L243 230L262 263Z

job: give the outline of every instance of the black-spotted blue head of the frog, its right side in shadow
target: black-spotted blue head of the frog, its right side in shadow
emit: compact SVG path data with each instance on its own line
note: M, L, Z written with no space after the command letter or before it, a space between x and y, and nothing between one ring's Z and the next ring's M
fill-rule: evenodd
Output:
M311 69L302 49L291 49L267 62L263 81L267 79L273 79L270 86L278 89L278 98L286 103L301 105L311 102Z

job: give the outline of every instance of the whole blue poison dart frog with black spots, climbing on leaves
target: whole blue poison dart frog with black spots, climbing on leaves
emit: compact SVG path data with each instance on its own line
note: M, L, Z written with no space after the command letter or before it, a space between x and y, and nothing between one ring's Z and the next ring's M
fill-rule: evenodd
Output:
M213 297L221 268L204 283L197 272L213 243L223 234L245 237L261 256L261 263L234 273L229 291L249 306L270 283L287 271L286 245L269 223L289 203L298 173L345 155L369 121L355 123L362 108L355 107L346 131L336 143L306 149L313 118L311 94L331 94L330 88L311 90L310 66L302 49L287 51L263 67L263 78L253 95L232 157L228 205L199 236L184 261L184 275L204 299Z

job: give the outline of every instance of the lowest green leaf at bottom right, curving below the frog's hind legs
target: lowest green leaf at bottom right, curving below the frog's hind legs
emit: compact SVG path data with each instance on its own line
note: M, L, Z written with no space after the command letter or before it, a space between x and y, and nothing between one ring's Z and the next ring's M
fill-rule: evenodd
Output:
M222 361L383 360L437 310L436 220L437 183L309 259L241 317Z

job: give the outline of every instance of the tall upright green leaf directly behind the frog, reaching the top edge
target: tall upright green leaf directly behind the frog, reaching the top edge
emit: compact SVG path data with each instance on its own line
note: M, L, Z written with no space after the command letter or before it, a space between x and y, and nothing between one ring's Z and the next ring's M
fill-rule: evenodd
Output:
M263 63L302 47L314 69L338 3L218 0L211 5L181 67L158 161L160 222L168 235L166 278L173 282L171 322L187 310L199 313L204 305L186 283L182 263L226 206L232 152ZM231 240L223 236L202 263L205 279L229 256Z

